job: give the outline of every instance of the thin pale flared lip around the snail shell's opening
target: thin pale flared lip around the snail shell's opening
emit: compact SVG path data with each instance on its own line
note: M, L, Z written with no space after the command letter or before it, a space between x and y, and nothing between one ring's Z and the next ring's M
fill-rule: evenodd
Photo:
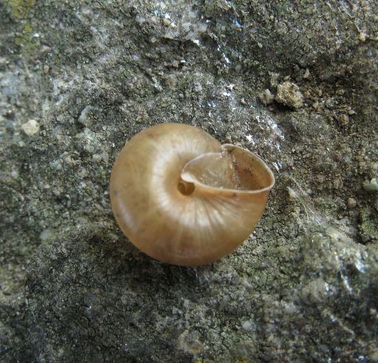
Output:
M243 150L244 152L247 152L248 154L251 154L251 156L256 158L261 164L263 164L263 166L265 167L267 173L269 174L269 176L271 178L271 183L267 187L264 187L264 188L261 188L261 189L248 190L248 189L232 189L232 188L212 187L210 185L201 183L197 179L195 179L195 180L188 180L186 178L183 178L183 179L187 182L194 183L194 185L199 185L201 187L204 187L206 189L210 189L210 190L213 190L213 191L221 190L221 191L236 193L236 194L259 194L259 193L263 193L265 191L269 191L271 188L274 187L274 184L276 183L276 179L274 178L274 174L271 171L271 169L269 168L269 166L267 165L267 163L265 163L265 161L263 161L263 159L261 159L260 156L254 154L253 152L250 152L249 150L247 150L245 148L241 148L240 146L232 145L231 143L223 143L221 145L222 151L225 150L226 148L236 148L236 149L239 149L239 150ZM186 163L184 165L184 167L181 170L181 173L185 172L185 168L186 168L187 165L190 165L191 163L194 163L194 161L197 161L197 160L203 158L203 156L218 155L218 154L221 154L221 152L206 152L204 154L196 156L195 158L191 159L190 161L188 161L188 163ZM182 177L182 174L181 174L181 177Z

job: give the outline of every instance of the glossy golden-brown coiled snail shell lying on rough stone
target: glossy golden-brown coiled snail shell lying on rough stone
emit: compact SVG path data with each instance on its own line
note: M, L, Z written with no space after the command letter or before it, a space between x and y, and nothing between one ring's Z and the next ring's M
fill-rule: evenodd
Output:
M230 253L252 233L274 175L255 154L221 145L183 124L135 135L111 172L115 219L131 242L170 264L199 266Z

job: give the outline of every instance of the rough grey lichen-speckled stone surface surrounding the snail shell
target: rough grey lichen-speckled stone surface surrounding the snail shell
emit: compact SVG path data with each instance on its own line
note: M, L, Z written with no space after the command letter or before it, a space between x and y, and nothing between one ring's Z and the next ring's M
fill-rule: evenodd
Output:
M0 362L378 362L377 13L1 0ZM284 82L301 107L259 101ZM210 266L149 259L111 215L115 156L166 121L276 174Z

